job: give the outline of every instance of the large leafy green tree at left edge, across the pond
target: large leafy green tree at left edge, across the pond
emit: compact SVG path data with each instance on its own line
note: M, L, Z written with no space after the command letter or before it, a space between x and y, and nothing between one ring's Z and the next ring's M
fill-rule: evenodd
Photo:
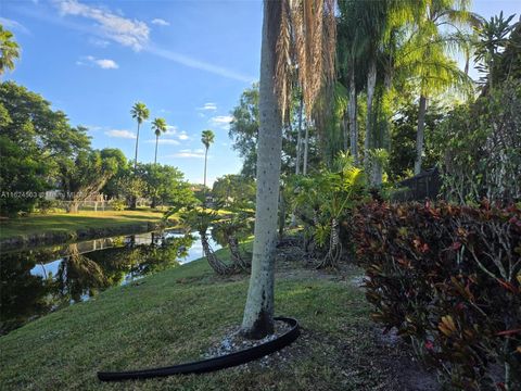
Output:
M0 213L30 212L53 189L63 165L90 141L84 127L72 127L41 96L13 81L0 85ZM49 180L49 178L52 178Z

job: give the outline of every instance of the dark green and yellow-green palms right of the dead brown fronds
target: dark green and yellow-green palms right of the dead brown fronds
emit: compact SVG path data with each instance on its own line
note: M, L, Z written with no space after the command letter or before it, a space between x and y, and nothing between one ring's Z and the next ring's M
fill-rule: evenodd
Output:
M371 185L382 181L374 156L389 143L390 102L398 91L418 94L415 174L421 171L429 99L447 90L470 92L469 42L482 20L469 0L339 0L338 65L348 94L344 137L358 163L357 97L367 99L364 166ZM450 54L465 55L461 71Z

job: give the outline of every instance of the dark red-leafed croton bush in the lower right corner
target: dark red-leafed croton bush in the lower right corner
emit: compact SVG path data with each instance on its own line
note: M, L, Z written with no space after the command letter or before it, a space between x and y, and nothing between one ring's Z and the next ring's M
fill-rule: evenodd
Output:
M521 210L374 202L356 215L373 319L460 390L521 390Z

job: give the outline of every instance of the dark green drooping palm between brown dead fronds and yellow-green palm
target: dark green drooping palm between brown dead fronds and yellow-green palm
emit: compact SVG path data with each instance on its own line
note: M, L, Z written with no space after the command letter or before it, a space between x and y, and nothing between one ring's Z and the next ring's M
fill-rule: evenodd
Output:
M376 186L381 182L381 166L374 159L374 150L382 147L382 133L385 133L384 127L378 126L377 118L382 116L381 98L389 94L392 84L392 66L386 66L390 61L385 60L395 45L395 31L403 29L414 13L408 10L418 7L418 0L339 2L340 70L350 96L346 113L350 152L358 164L357 96L366 84L364 166L371 185Z

